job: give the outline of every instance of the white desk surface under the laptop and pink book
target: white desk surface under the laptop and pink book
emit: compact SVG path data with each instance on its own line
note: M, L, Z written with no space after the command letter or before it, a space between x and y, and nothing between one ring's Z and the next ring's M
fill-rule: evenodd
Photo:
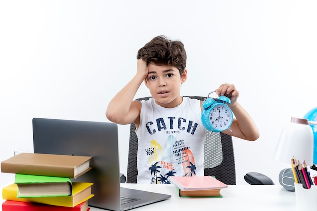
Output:
M121 184L134 188L172 195L171 198L132 210L287 210L296 211L295 192L281 185L229 185L220 191L222 198L180 198L174 185ZM102 209L91 208L91 211Z

